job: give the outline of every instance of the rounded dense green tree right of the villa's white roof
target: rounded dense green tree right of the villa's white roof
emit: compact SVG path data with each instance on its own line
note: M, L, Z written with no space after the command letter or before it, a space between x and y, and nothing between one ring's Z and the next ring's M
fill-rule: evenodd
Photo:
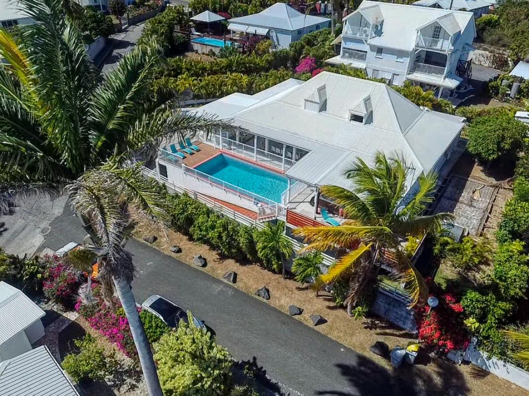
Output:
M529 128L507 114L475 118L467 128L468 150L480 161L494 161L514 154Z

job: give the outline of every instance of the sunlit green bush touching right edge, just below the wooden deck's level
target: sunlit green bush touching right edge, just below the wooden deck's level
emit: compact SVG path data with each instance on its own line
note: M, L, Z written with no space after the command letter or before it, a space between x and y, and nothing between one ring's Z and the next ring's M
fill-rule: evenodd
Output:
M518 240L499 245L494 254L491 279L506 300L524 297L529 282L529 256Z

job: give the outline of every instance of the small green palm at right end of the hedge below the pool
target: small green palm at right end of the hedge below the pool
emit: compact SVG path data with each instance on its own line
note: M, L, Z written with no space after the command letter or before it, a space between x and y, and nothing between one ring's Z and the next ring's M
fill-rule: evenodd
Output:
M292 242L285 235L285 223L266 223L265 228L257 233L256 248L265 265L276 271L281 268L283 278L286 278L285 260L292 254Z

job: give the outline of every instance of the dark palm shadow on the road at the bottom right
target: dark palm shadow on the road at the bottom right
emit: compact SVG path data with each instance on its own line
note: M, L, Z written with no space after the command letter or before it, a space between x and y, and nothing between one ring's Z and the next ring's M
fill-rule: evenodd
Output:
M321 390L330 396L460 396L469 391L463 376L453 364L434 360L429 369L403 366L387 369L358 355L353 364L336 367L348 380L350 390ZM433 367L432 367L433 366Z

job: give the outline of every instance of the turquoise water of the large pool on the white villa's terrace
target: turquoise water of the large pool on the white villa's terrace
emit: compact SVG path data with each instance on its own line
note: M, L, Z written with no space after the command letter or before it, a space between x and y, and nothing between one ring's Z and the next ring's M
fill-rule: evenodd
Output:
M224 154L195 169L277 203L281 203L281 193L288 186L285 176Z

